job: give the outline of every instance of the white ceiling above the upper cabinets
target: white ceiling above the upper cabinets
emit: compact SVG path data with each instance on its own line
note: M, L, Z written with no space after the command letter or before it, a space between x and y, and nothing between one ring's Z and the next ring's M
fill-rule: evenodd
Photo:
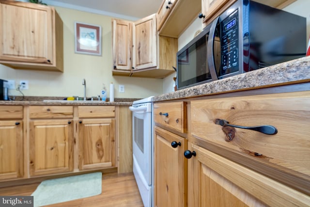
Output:
M157 12L163 0L42 0L51 6L72 8L136 20Z

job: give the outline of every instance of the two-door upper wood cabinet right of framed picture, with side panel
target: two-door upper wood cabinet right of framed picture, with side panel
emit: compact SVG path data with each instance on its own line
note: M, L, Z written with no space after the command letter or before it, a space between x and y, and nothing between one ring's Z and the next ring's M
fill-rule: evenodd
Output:
M178 40L157 35L156 15L112 20L113 75L164 78L174 72Z

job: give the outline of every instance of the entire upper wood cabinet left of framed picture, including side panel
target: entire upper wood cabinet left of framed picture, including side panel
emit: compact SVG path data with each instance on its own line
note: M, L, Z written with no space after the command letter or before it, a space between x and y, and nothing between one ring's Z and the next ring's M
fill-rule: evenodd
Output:
M53 7L0 0L0 63L63 71L62 20Z

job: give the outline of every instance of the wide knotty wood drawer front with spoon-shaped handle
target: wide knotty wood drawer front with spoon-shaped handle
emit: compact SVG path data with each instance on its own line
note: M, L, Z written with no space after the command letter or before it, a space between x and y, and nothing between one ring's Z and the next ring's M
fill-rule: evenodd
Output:
M238 155L234 161L251 165L258 171L265 166L263 173L310 193L309 103L310 92L194 100L190 110L191 138L198 138L196 142L206 148L211 144L211 150L227 149ZM215 123L217 119L238 126L271 125L278 132L267 135L249 129L222 127ZM292 178L296 178L294 182Z

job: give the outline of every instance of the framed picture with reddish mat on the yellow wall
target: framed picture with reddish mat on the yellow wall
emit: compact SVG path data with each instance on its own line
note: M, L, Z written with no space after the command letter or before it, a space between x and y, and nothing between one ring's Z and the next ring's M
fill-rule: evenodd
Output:
M75 22L75 53L101 56L101 26Z

